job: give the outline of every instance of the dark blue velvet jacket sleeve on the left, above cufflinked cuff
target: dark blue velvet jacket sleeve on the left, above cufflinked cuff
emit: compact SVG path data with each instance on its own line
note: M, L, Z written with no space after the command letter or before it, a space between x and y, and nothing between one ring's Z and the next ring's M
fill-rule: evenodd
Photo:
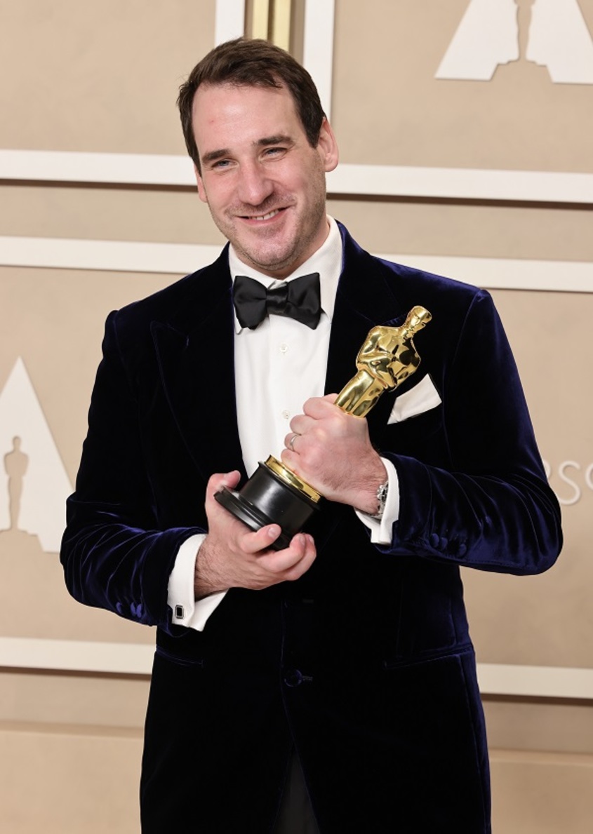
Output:
M159 529L139 431L138 394L110 314L88 413L76 490L67 503L60 560L85 605L167 627L168 575L199 527Z

